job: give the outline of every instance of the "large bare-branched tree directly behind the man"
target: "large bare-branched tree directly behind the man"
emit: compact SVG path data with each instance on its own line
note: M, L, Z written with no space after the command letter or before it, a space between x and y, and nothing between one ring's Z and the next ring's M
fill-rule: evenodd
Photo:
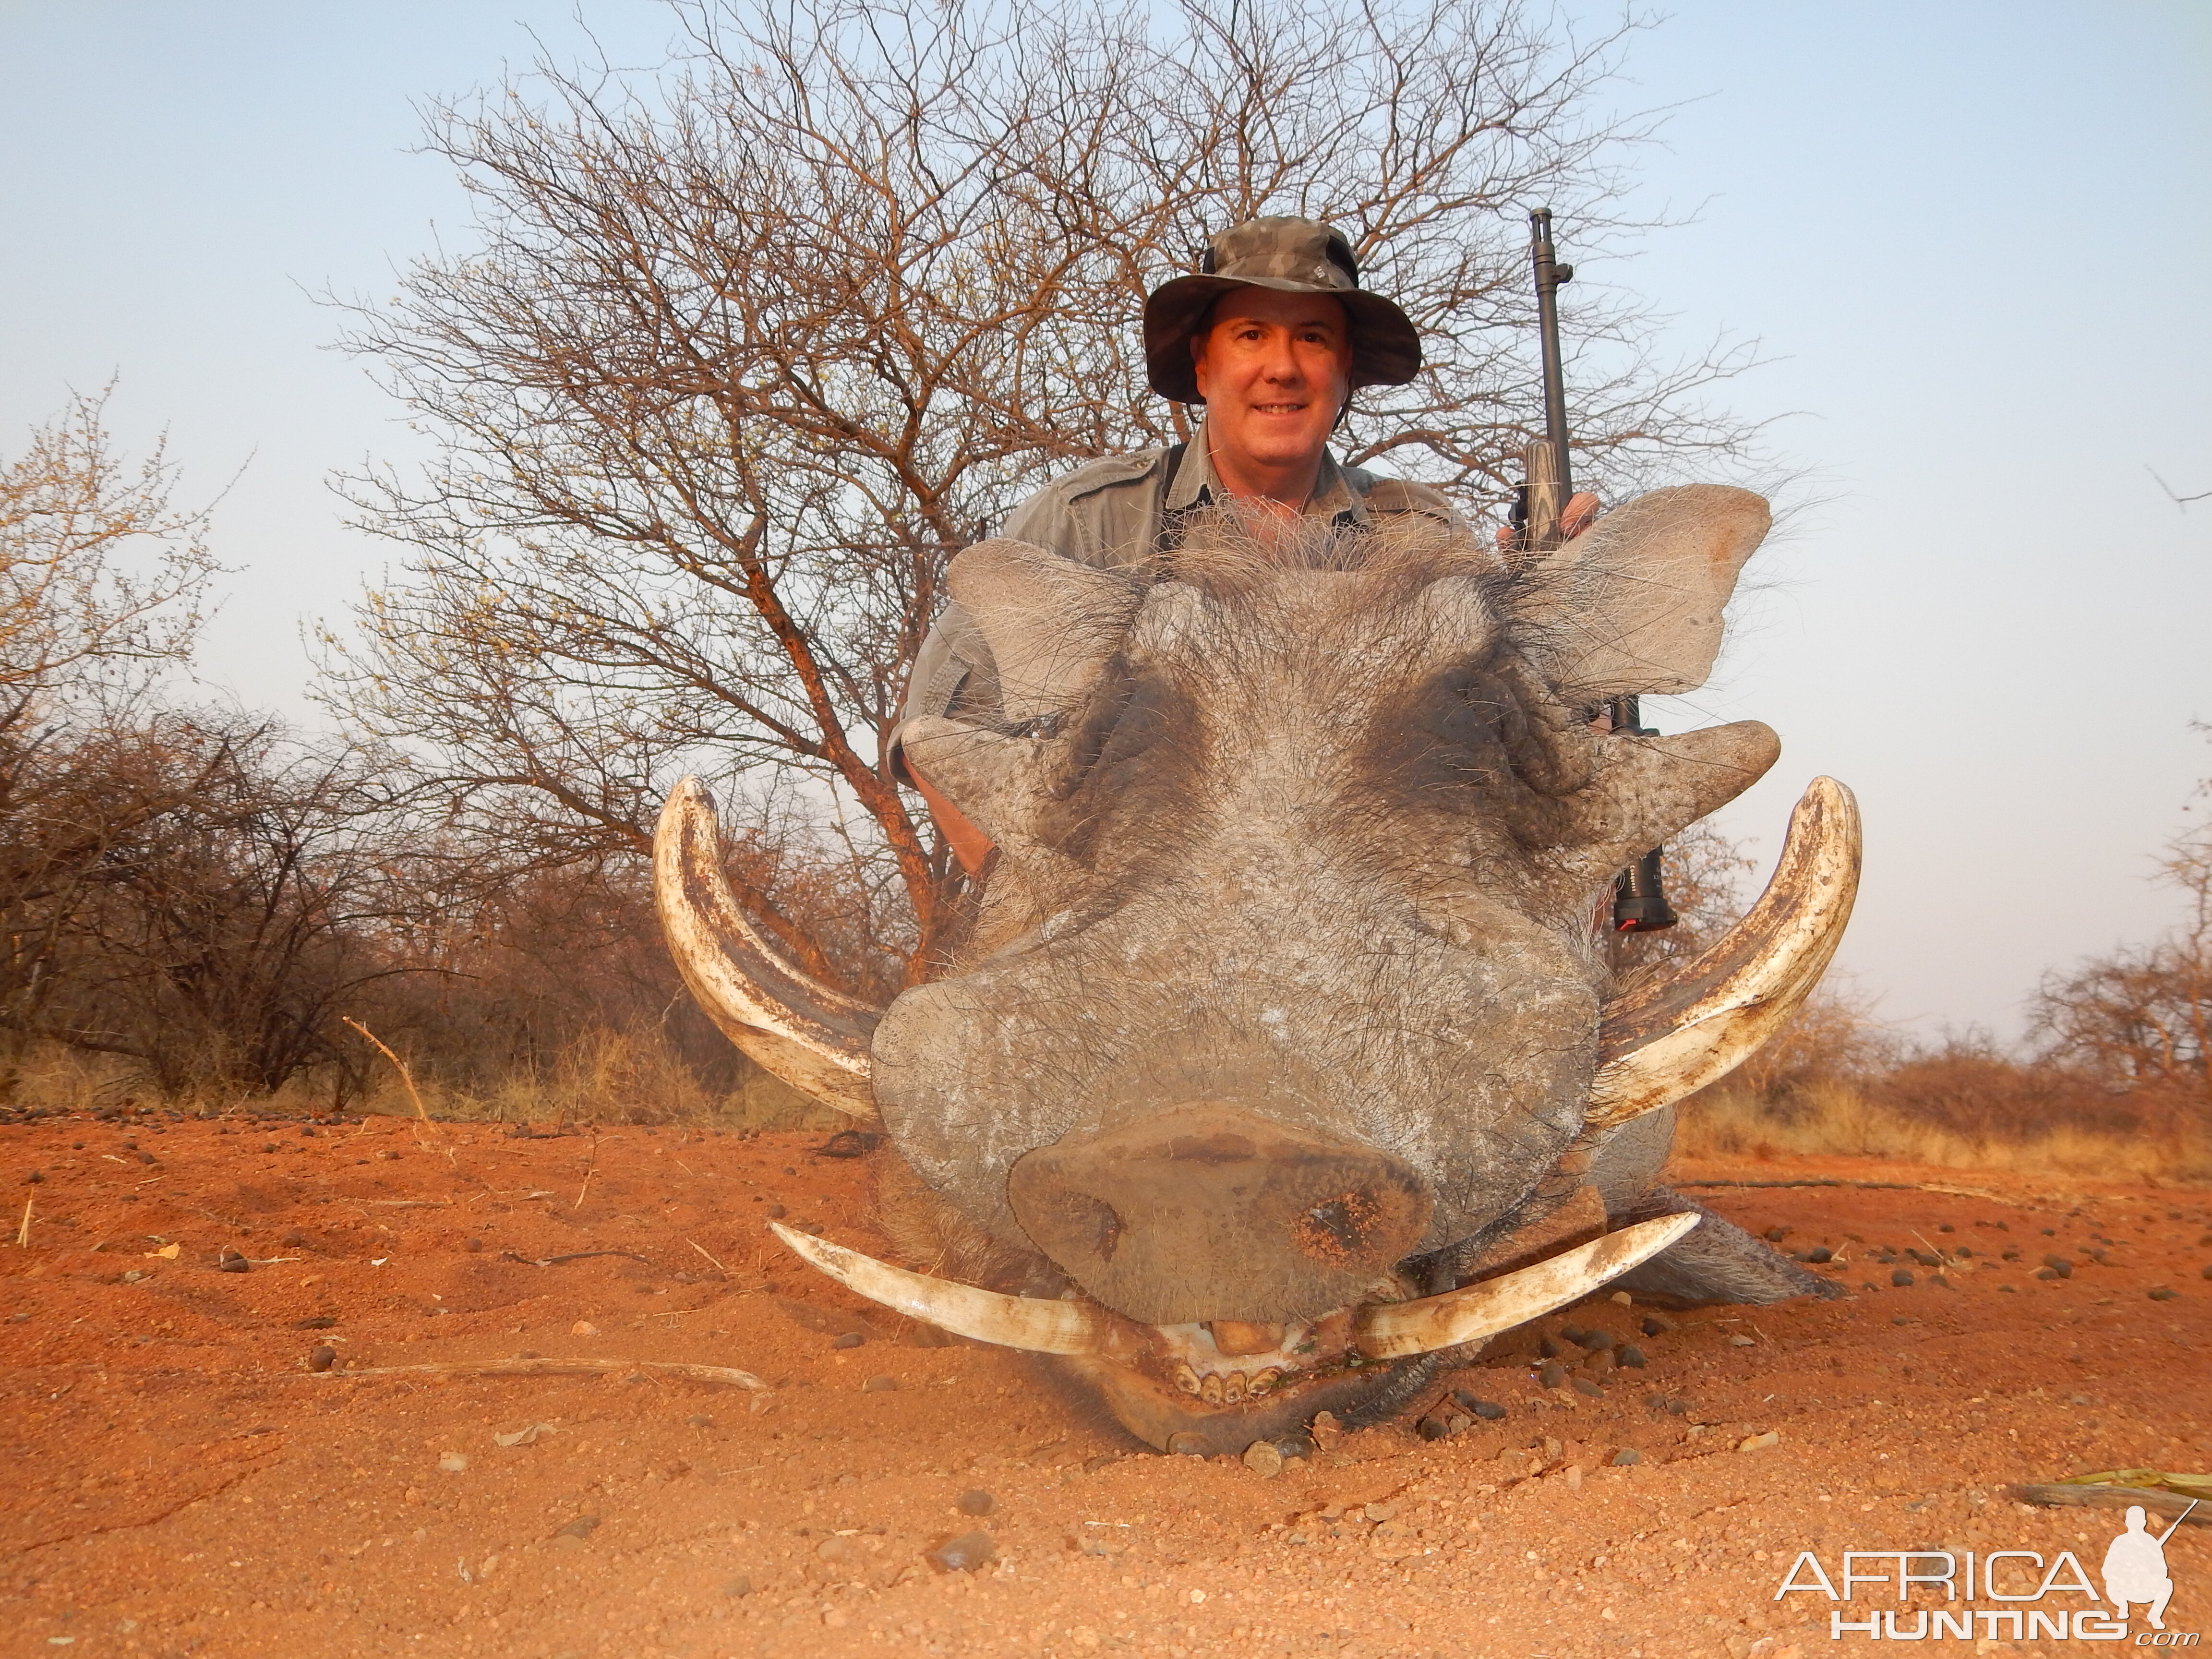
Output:
M1429 345L1349 458L1495 500L1540 409L1524 210L1584 257L1632 230L1648 122L1599 104L1624 31L1522 0L672 13L659 75L540 64L434 113L476 246L349 343L440 458L347 480L409 555L327 697L522 856L641 849L686 768L781 787L911 969L958 872L883 774L907 668L956 549L1071 460L1188 434L1144 387L1146 288L1239 219L1338 223ZM1739 352L1652 363L1635 303L1568 294L1584 476L1741 449L1699 407Z

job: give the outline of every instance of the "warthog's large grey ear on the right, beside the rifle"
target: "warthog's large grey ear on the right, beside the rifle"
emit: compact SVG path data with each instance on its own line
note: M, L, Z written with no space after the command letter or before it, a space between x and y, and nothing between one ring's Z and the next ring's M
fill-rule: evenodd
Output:
M1573 699L1686 692L1721 650L1721 611L1772 513L1747 489L1637 495L1522 573L1515 635Z

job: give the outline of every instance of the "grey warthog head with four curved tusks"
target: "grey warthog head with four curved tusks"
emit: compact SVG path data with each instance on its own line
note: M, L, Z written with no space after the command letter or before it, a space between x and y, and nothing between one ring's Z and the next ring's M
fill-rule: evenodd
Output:
M1214 520L1157 580L960 553L993 684L905 750L998 852L940 978L880 1018L836 998L730 900L697 785L661 823L692 989L770 1071L880 1113L894 1237L953 1276L785 1241L1214 1451L1396 1409L1436 1356L1670 1248L1679 1294L1807 1290L1741 1250L1683 1265L1699 1214L1652 1179L1663 1108L1827 964L1849 796L1814 785L1686 969L1617 987L1599 936L1621 865L1774 763L1759 723L1593 726L1703 681L1765 526L1692 487L1522 564L1429 520Z

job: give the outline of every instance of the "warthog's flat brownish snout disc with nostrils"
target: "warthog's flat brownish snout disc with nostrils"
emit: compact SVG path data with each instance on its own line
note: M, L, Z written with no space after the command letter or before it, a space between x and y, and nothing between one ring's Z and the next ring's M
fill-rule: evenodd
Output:
M1013 1166L1013 1214L1130 1318L1272 1323L1356 1301L1429 1230L1400 1159L1199 1102Z

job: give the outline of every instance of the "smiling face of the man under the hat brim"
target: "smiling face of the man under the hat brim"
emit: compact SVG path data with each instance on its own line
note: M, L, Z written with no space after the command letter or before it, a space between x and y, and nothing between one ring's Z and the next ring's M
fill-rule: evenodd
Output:
M1316 460L1352 394L1352 334L1327 294L1232 288L1190 356L1217 453L1250 467Z

